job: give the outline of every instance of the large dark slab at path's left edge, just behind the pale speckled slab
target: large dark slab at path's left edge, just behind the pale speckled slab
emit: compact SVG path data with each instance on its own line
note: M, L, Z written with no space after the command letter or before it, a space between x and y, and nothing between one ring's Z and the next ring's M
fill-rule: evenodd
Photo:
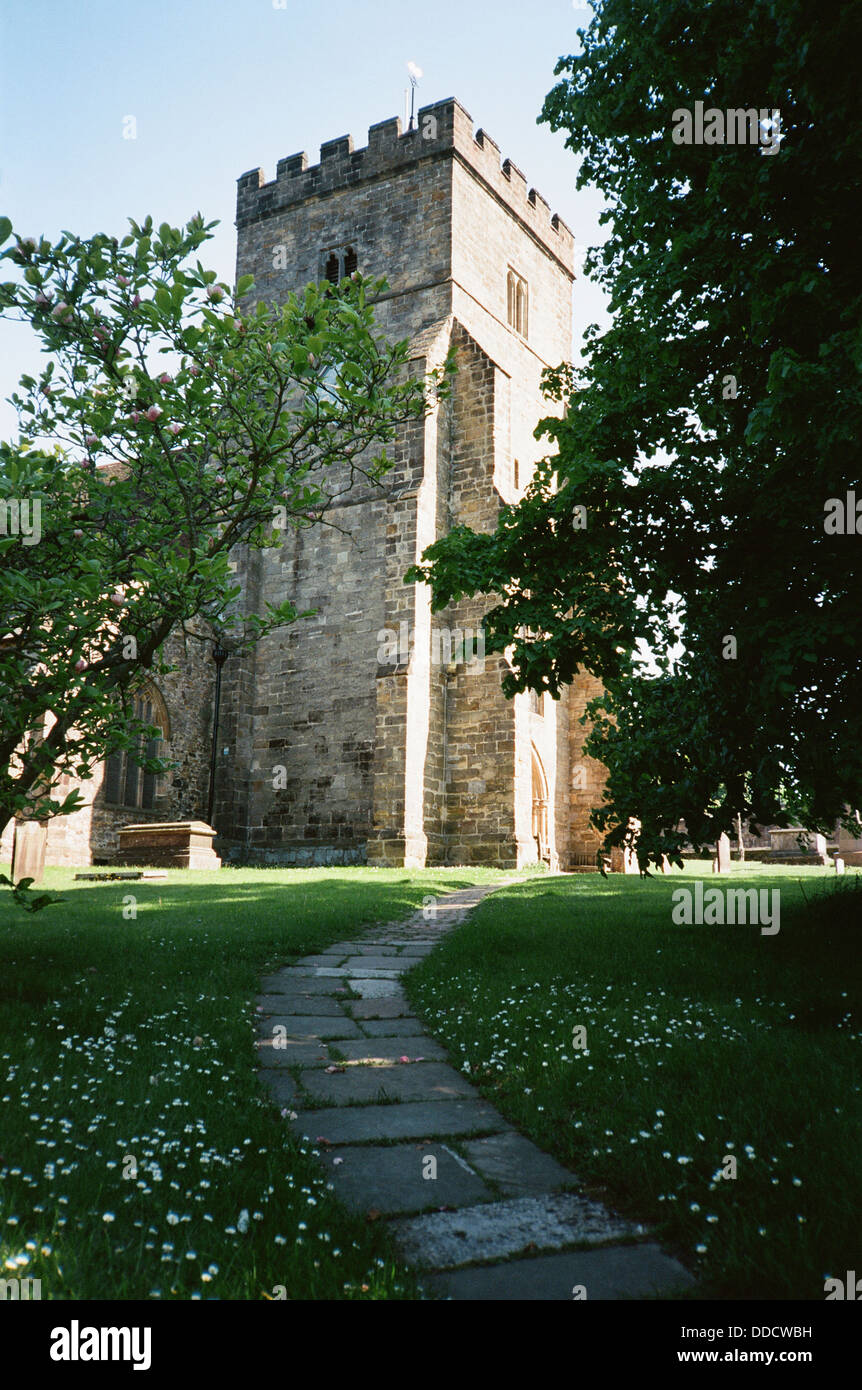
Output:
M327 1150L323 1162L335 1195L353 1211L391 1216L494 1200L481 1177L442 1144Z

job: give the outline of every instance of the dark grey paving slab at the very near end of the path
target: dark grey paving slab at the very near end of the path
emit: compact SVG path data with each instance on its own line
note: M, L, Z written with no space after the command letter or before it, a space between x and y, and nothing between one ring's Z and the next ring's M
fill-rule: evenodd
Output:
M571 1302L576 1294L578 1298L585 1294L587 1301L649 1298L683 1293L694 1283L678 1261L653 1244L570 1250L423 1279L423 1284L441 1297L470 1302Z

